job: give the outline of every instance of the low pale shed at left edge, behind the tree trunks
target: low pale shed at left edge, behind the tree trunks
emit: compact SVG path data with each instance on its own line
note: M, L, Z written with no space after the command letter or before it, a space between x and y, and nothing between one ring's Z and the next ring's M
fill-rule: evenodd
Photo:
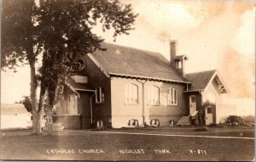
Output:
M29 128L31 117L22 103L1 104L1 129Z

